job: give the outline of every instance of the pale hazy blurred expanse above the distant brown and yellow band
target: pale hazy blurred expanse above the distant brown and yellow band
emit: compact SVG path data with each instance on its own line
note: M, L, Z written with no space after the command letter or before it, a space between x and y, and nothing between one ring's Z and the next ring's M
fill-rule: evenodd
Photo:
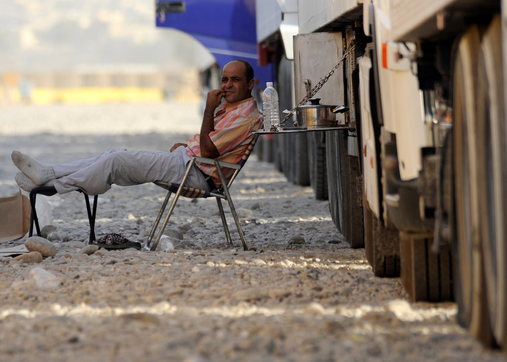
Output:
M205 67L188 35L156 28L153 0L0 0L0 71Z

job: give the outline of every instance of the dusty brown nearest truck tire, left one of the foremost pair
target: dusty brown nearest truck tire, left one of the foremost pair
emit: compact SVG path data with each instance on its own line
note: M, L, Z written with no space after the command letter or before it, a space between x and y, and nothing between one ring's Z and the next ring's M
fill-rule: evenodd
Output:
M492 345L480 232L476 87L480 30L471 26L459 41L453 66L456 303L458 322Z

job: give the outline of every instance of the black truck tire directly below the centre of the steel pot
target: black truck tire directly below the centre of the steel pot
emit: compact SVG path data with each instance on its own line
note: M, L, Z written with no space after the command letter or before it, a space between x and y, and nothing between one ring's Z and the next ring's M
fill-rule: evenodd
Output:
M308 166L310 186L315 200L328 200L328 173L324 132L308 133Z

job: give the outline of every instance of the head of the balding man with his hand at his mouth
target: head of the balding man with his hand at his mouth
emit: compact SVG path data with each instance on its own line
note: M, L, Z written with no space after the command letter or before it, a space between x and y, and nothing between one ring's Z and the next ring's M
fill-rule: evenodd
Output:
M225 92L224 98L227 102L239 102L251 97L253 79L246 82L245 65L239 61L232 61L224 66L220 88Z

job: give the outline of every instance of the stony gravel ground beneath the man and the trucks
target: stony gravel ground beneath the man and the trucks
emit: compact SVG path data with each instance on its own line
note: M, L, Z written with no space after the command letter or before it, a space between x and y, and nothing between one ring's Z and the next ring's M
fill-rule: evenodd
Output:
M14 149L49 163L111 148L169 149L200 124L198 105L189 104L1 111L2 195L18 190ZM252 156L232 195L255 251L239 247L237 232L238 248L227 247L214 200L181 199L167 228L173 249L82 254L83 196L47 198L51 223L70 239L40 264L0 258L0 359L507 360L456 324L455 304L412 303L399 279L374 277L364 249L337 232L328 203L272 165ZM97 236L144 242L163 197L154 185L113 187L99 196ZM56 285L44 287L38 267Z

